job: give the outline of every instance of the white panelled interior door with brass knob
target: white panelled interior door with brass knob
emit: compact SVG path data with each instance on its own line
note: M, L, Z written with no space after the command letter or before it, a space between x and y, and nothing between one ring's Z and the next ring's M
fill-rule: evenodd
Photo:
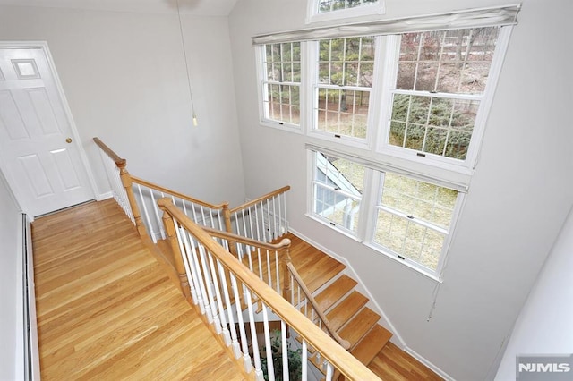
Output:
M94 198L56 78L42 48L0 48L0 165L30 216Z

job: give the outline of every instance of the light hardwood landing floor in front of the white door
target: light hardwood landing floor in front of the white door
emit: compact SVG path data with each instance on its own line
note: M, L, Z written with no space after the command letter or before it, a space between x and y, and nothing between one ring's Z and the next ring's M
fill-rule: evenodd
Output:
M41 377L250 379L115 201L32 224Z

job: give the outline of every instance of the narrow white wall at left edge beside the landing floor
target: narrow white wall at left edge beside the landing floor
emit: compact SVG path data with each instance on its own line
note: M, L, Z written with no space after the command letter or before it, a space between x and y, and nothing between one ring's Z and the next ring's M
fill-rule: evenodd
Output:
M21 213L0 174L0 380L13 380L23 364L21 346Z

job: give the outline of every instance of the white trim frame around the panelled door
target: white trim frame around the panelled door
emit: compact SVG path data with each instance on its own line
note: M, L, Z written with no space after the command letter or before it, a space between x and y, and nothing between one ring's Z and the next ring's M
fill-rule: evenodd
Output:
M78 152L80 154L81 159L81 169L85 171L85 174L88 177L89 182L89 190L91 191L91 196L93 199L97 199L98 196L98 187L96 185L95 177L93 175L93 171L91 170L90 162L88 161L88 157L86 155L85 149L83 148L83 144L81 144L80 134L78 133L78 129L76 128L75 122L73 121L72 110L68 104L67 98L64 94L64 88L62 87L62 82L60 77L56 71L56 63L54 63L54 59L50 54L50 50L47 47L47 41L0 41L0 49L42 49L44 55L46 55L47 65L49 66L52 74L54 76L54 82L56 83L56 90L58 95L60 96L60 100L62 102L62 106L64 107L64 114L69 123L70 130L72 132L73 140L77 142L76 147L78 148ZM13 179L11 174L6 170L6 163L0 157L0 172L4 174L4 179L10 186L16 201L18 202L19 206L21 207L21 211L26 213L30 220L33 221L34 216L30 215L30 207L26 205L26 202L21 197L21 192L19 192L18 184Z

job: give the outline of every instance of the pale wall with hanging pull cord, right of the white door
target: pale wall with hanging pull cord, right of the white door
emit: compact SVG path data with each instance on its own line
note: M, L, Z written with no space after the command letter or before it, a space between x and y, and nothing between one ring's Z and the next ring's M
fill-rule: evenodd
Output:
M177 16L0 6L0 40L46 40L88 153L94 136L134 175L207 201L244 201L227 17L183 16L199 126L192 126Z

